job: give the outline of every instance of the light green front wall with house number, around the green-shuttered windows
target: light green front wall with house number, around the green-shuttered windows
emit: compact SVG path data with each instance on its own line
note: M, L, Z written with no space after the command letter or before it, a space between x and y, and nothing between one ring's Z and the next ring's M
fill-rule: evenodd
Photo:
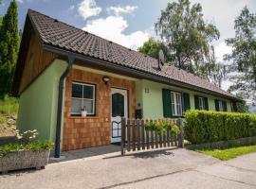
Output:
M174 87L171 85L156 83L150 80L141 79L137 81L137 103L141 104L143 118L163 118L162 89L170 89L177 92L190 94L191 109L194 109L194 94L208 97L209 109L215 111L214 99L222 99L209 94L195 93L190 90ZM231 112L231 104L227 101L228 111Z

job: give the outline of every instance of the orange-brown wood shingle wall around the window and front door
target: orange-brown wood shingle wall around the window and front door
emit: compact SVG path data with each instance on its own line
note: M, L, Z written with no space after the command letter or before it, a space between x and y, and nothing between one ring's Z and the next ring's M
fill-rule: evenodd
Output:
M133 80L110 77L107 85L104 75L72 69L65 80L63 150L72 150L110 144L111 127L111 88L125 89L128 92L128 116L135 118L136 84ZM96 115L72 116L72 82L96 85Z

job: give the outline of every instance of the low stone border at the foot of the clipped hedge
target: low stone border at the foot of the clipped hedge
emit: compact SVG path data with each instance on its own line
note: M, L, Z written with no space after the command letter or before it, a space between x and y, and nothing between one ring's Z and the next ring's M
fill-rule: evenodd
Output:
M187 149L195 149L195 148L217 148L217 147L228 147L230 145L250 145L256 143L256 136L234 139L229 141L218 141L214 143L206 143L200 145L187 145L185 146Z

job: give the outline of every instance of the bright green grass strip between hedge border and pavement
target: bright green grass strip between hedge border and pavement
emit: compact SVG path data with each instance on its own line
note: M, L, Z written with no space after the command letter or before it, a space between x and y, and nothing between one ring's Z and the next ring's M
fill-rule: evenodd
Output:
M197 148L195 151L210 155L222 161L227 161L241 155L256 152L256 145L229 146L227 148Z

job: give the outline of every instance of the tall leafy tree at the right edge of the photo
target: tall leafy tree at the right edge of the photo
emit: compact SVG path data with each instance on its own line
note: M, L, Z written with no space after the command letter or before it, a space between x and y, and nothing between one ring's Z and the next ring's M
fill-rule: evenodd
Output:
M256 14L247 7L235 19L235 37L226 40L232 52L225 56L232 63L229 91L243 92L247 98L256 100Z

